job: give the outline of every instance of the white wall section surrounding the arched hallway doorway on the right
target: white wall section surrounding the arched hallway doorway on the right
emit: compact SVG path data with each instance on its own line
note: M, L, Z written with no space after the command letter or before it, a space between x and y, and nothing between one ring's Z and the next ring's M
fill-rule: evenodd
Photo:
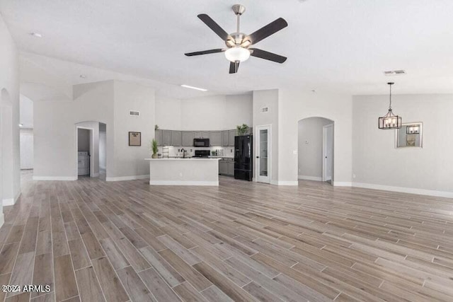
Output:
M325 117L335 122L334 185L350 185L352 175L352 98L339 93L279 90L278 180L297 181L297 122ZM355 117L354 117L355 118ZM377 118L375 120L377 123Z

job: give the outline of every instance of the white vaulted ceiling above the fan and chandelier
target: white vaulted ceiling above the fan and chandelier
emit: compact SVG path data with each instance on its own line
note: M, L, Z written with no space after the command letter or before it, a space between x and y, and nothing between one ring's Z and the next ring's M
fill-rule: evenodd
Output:
M395 93L453 93L451 0L239 3L246 6L243 33L287 20L287 28L257 46L287 62L252 57L229 74L223 54L184 56L224 47L197 14L234 32L236 1L0 0L0 12L23 52L174 85L166 89L180 91L185 83L227 94L280 87L377 94L395 81ZM407 75L384 76L394 69Z

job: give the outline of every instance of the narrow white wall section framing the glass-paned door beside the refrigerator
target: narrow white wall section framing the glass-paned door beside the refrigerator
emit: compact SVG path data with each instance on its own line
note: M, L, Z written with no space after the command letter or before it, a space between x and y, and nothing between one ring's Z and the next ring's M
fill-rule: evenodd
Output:
M270 182L278 184L278 169L279 169L279 158L278 154L280 151L279 145L279 91L277 89L253 91L253 132L256 134L256 127L260 125L271 125L271 163L270 163ZM260 112L260 108L268 107L268 112ZM253 140L255 142L256 139ZM253 158L255 163L253 167L257 167L256 154L258 153L258 146L253 144ZM253 175L256 175L256 170L253 171Z

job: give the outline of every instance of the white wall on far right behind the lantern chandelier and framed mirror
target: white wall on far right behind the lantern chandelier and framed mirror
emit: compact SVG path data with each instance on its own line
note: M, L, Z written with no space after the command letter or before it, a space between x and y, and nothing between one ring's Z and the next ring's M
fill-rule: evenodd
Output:
M412 150L395 149L395 131L377 127L378 117L387 112L388 95L355 96L353 102L355 185L450 192L453 197L453 95L394 95L392 108L403 123L423 122L423 149Z

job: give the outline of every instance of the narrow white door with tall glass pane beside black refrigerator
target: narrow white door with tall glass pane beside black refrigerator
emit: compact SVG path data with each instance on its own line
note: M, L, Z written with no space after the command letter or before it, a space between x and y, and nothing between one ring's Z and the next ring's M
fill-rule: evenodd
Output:
M256 181L270 183L270 126L256 127Z

